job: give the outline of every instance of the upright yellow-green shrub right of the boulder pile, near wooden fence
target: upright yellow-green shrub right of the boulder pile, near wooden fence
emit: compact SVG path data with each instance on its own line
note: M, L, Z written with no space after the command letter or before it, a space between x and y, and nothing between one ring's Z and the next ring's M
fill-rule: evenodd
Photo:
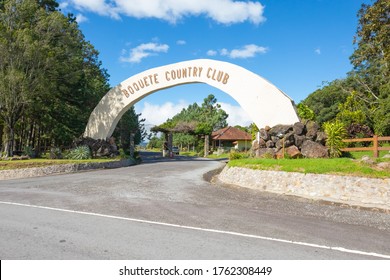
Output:
M326 140L326 146L329 148L330 157L340 157L341 149L345 146L345 143L342 141L342 139L347 135L344 124L340 121L325 122L323 124L323 128L328 136L328 139Z

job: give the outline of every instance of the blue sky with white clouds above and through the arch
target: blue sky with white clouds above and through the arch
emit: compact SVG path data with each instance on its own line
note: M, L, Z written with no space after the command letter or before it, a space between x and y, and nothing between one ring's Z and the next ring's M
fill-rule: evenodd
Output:
M100 52L116 86L149 68L209 58L268 79L296 103L324 81L351 70L357 11L370 0L64 0L86 39ZM227 94L203 84L156 92L136 104L158 125L214 94L230 125L249 117ZM267 106L267 104L264 104Z

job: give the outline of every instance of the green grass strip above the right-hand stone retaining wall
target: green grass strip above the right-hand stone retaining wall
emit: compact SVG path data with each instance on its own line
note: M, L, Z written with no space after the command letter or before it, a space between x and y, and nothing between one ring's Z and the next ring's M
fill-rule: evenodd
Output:
M287 172L351 175L373 178L389 178L389 170L374 167L349 158L335 159L238 159L228 163L231 167Z

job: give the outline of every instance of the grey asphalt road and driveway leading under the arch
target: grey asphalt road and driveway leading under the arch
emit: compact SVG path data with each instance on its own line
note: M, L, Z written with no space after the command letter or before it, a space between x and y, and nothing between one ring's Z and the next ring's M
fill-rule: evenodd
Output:
M211 184L223 162L143 155L0 181L0 259L390 258L388 213Z

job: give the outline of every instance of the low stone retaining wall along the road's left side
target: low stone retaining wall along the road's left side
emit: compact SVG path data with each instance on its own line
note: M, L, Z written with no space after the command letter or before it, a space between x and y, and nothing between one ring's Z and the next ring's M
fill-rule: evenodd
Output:
M91 169L103 168L118 168L135 164L132 160L123 159L109 162L91 162L91 163L75 163L75 164L60 164L50 165L46 167L32 167L25 169L1 170L0 180L38 177L51 174L73 173L78 171L85 171Z

